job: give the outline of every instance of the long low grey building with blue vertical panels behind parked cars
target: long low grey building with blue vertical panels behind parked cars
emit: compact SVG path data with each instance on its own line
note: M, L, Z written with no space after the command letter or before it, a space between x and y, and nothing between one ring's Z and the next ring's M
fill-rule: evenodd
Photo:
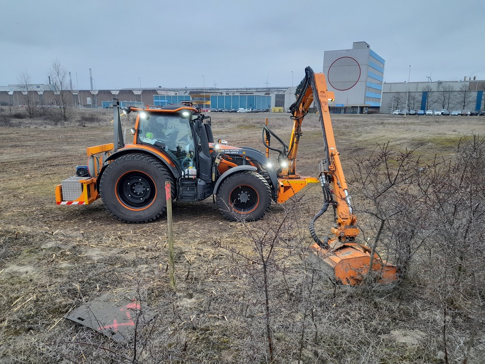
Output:
M398 109L479 111L485 109L484 90L485 81L476 77L473 80L464 77L460 81L384 83L381 113L390 114Z

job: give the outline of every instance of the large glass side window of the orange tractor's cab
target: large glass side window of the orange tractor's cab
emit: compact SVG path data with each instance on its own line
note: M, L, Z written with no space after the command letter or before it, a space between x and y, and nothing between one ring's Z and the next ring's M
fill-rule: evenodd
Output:
M180 167L194 165L194 137L189 119L146 113L138 122L138 142L151 144L169 154Z

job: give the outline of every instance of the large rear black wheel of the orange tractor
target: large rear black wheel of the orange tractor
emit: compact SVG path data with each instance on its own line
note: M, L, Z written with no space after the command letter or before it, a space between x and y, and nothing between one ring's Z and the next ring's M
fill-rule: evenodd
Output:
M125 154L101 175L99 194L106 209L118 220L150 222L167 208L165 181L170 181L174 198L174 179L161 161L146 154Z

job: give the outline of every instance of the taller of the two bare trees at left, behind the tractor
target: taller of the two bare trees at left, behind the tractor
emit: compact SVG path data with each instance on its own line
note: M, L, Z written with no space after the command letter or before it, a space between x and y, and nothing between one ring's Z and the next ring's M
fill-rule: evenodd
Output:
M53 60L48 72L53 93L53 103L57 106L53 111L64 122L69 121L74 115L67 75L66 68L58 60Z

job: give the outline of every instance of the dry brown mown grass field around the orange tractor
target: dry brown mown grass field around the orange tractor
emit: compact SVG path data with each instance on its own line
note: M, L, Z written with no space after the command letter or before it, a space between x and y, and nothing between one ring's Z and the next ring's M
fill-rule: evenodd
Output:
M334 287L311 271L307 223L322 204L317 185L273 204L251 224L227 222L212 199L175 202L172 291L166 219L123 224L100 200L55 205L55 185L86 164L85 148L113 140L109 113L82 113L69 125L11 118L2 126L0 363L268 363L268 322L277 363L444 363L443 323L450 363L461 363L471 318L459 309L443 316L433 283L420 281L420 267L405 289L391 291ZM290 136L288 115L210 116L214 137L233 146L263 150L265 117L284 140ZM431 161L452 156L460 139L485 133L485 117L473 116L335 115L332 121L344 171L357 155L387 142ZM299 172L318 176L322 153L318 116L308 115ZM331 216L319 220L318 231L329 232L331 224ZM271 317L257 258L265 233L281 240L269 282ZM105 294L136 299L157 315L140 324L136 340L122 344L63 319ZM469 363L484 363L483 328L475 343Z

